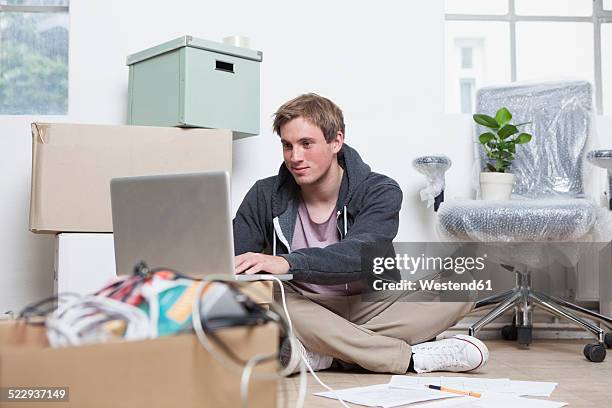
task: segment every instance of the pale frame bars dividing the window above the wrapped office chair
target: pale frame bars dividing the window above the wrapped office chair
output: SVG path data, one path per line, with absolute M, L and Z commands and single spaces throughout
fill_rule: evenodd
M 587 22 L 593 23 L 594 48 L 594 81 L 595 105 L 597 113 L 603 114 L 602 94 L 602 61 L 601 61 L 601 25 L 612 23 L 612 10 L 604 10 L 603 0 L 592 0 L 593 12 L 591 16 L 529 16 L 516 13 L 515 0 L 508 1 L 506 14 L 445 14 L 445 21 L 499 21 L 510 25 L 510 81 L 516 82 L 516 23 L 523 21 L 552 21 L 552 22 Z

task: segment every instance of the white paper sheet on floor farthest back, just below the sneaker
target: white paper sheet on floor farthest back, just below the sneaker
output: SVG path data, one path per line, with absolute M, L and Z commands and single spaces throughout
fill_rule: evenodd
M 495 392 L 532 397 L 550 397 L 557 386 L 557 383 L 553 382 L 515 381 L 508 378 L 418 377 L 406 375 L 394 375 L 389 382 L 389 386 L 393 388 L 417 390 L 428 384 L 480 393 Z

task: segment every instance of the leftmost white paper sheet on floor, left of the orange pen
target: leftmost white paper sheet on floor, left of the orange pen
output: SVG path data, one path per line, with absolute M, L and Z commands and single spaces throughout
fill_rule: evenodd
M 347 388 L 335 392 L 317 392 L 315 395 L 326 398 L 342 398 L 345 402 L 364 405 L 366 407 L 392 408 L 402 405 L 414 404 L 423 401 L 440 400 L 444 398 L 461 398 L 457 394 L 450 394 L 423 387 L 420 390 L 391 389 L 389 384 L 369 385 L 366 387 Z

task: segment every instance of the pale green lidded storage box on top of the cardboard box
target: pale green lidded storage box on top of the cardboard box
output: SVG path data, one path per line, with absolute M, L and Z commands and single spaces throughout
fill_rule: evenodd
M 184 36 L 127 58 L 128 123 L 259 134 L 261 51 Z

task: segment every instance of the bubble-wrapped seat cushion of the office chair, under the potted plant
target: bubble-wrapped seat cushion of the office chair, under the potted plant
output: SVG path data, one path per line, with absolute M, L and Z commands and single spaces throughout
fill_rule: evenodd
M 438 210 L 444 241 L 487 244 L 490 261 L 517 267 L 576 266 L 612 240 L 612 214 L 587 199 L 454 200 Z

